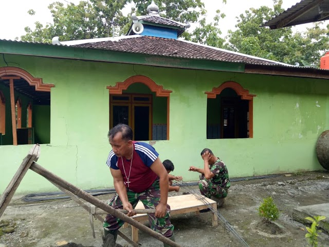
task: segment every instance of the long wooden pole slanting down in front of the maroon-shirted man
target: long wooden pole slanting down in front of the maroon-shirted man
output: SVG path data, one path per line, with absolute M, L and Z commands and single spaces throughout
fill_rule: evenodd
M 85 200 L 89 203 L 92 203 L 95 206 L 106 211 L 108 214 L 111 214 L 111 215 L 131 224 L 132 226 L 137 227 L 139 230 L 151 235 L 152 237 L 160 240 L 161 242 L 166 243 L 170 246 L 180 247 L 179 244 L 175 243 L 174 241 L 170 240 L 169 238 L 166 238 L 166 237 L 162 236 L 161 234 L 156 233 L 155 231 L 151 230 L 149 227 L 139 223 L 138 221 L 132 219 L 131 217 L 128 217 L 128 216 L 122 214 L 121 212 L 117 211 L 116 209 L 107 205 L 106 203 L 102 202 L 101 200 L 93 197 L 92 195 L 89 195 L 87 192 L 79 189 L 78 187 L 74 186 L 73 184 L 68 183 L 67 181 L 61 179 L 57 175 L 47 171 L 46 169 L 44 169 L 40 165 L 36 164 L 35 162 L 33 162 L 30 169 L 32 171 L 35 171 L 36 173 L 42 175 L 44 178 L 46 178 L 50 182 L 58 184 L 62 188 L 69 190 L 70 192 L 74 193 L 76 196 L 82 198 L 83 200 Z

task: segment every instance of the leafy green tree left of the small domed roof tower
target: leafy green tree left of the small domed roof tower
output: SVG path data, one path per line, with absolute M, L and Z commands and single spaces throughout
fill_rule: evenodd
M 124 26 L 127 22 L 122 18 L 121 9 L 126 0 L 90 0 L 81 1 L 78 5 L 54 2 L 49 5 L 53 23 L 45 27 L 40 22 L 35 23 L 35 29 L 25 28 L 26 34 L 22 41 L 46 42 L 59 36 L 60 40 L 79 40 L 107 37 L 112 31 L 113 22 Z M 33 10 L 28 11 L 34 14 Z

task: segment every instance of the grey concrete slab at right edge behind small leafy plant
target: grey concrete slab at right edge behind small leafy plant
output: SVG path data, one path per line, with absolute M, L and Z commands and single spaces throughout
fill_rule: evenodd
M 319 222 L 319 227 L 329 233 L 329 203 L 315 204 L 309 206 L 297 207 L 293 211 L 294 220 L 301 223 L 310 223 L 305 220 L 306 217 L 325 216 L 326 218 Z

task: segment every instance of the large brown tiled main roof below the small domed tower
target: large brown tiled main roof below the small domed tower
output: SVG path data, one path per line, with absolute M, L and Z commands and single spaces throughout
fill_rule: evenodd
M 223 62 L 242 62 L 263 65 L 287 65 L 211 46 L 200 45 L 193 42 L 149 36 L 121 39 L 118 41 L 85 43 L 72 46 L 175 58 L 202 59 Z

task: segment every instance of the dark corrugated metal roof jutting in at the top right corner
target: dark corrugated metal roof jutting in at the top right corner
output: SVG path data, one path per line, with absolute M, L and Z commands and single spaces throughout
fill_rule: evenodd
M 262 26 L 271 29 L 329 20 L 329 0 L 302 0 Z

